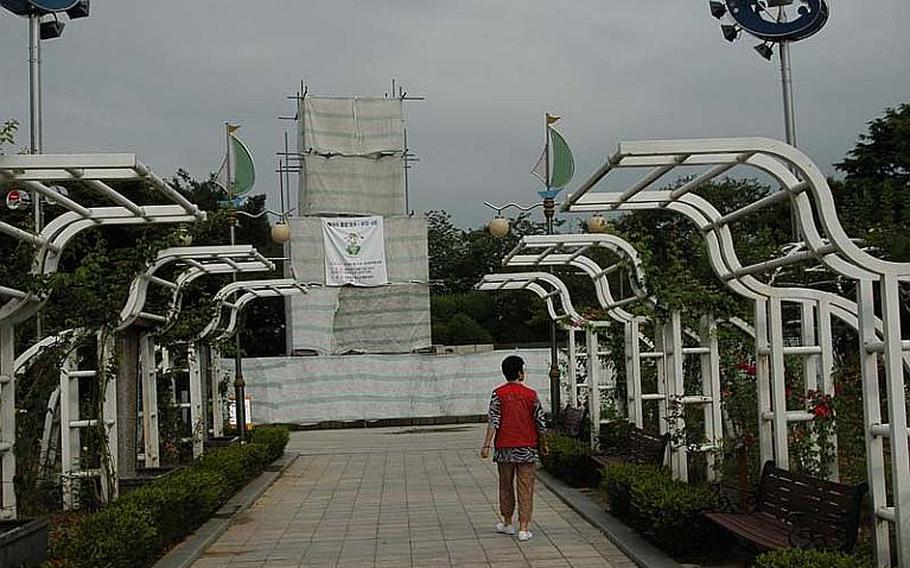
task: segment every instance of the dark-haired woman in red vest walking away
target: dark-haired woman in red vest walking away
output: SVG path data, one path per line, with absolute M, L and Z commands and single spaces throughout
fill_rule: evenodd
M 524 384 L 524 366 L 524 360 L 517 355 L 503 359 L 502 374 L 506 382 L 493 391 L 489 426 L 480 450 L 480 457 L 487 459 L 495 446 L 493 461 L 499 470 L 499 512 L 502 515 L 496 523 L 496 531 L 515 534 L 512 517 L 517 493 L 518 540 L 522 542 L 533 536 L 528 528 L 534 510 L 534 481 L 540 452 L 547 452 L 543 438 L 546 417 L 537 392 Z

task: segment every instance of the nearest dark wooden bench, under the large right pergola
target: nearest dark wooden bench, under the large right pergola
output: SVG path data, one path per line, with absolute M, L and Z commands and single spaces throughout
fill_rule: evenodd
M 866 483 L 843 485 L 779 469 L 762 468 L 758 491 L 740 492 L 739 511 L 706 513 L 717 526 L 760 550 L 791 546 L 849 552 L 856 545 Z M 730 501 L 722 500 L 732 511 Z

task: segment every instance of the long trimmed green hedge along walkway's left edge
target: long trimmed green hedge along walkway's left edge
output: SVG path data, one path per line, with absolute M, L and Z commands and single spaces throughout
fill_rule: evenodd
M 167 547 L 190 534 L 237 490 L 284 452 L 288 431 L 261 426 L 252 443 L 209 452 L 174 475 L 140 487 L 86 515 L 59 549 L 54 566 L 150 566 Z

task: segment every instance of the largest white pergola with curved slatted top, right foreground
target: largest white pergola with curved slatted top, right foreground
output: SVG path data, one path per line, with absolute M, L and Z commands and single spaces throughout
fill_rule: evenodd
M 779 191 L 726 214 L 721 214 L 717 207 L 693 193 L 740 165 L 771 176 L 779 183 Z M 672 191 L 646 191 L 661 177 L 683 166 L 707 169 Z M 589 193 L 610 171 L 640 167 L 652 170 L 625 191 Z M 789 201 L 796 212 L 801 243 L 785 256 L 743 266 L 735 252 L 731 225 L 767 206 L 785 201 Z M 910 564 L 910 448 L 904 395 L 906 352 L 910 350 L 910 342 L 901 336 L 899 297 L 901 282 L 910 280 L 910 264 L 876 258 L 850 239 L 837 217 L 831 189 L 823 173 L 805 154 L 775 140 L 740 138 L 622 143 L 619 151 L 563 205 L 565 211 L 636 209 L 666 209 L 694 220 L 707 239 L 711 262 L 718 276 L 731 289 L 755 301 L 762 454 L 773 455 L 778 466 L 787 467 L 789 462 L 788 421 L 811 418 L 805 409 L 793 412 L 786 407 L 784 356 L 804 357 L 809 368 L 807 384 L 815 380 L 815 384 L 821 383 L 820 390 L 833 394 L 831 317 L 857 329 L 878 564 L 890 565 L 889 529 L 892 526 L 898 564 Z M 755 277 L 811 260 L 855 281 L 856 303 L 817 290 L 775 288 Z M 876 286 L 880 302 L 875 299 Z M 784 345 L 783 301 L 802 306 L 803 344 L 800 346 Z M 881 320 L 875 316 L 876 307 L 882 314 Z M 883 383 L 880 370 L 884 375 Z M 886 398 L 887 421 L 883 418 L 882 392 Z M 887 450 L 884 438 L 890 438 Z M 890 452 L 890 487 L 885 475 L 886 451 Z

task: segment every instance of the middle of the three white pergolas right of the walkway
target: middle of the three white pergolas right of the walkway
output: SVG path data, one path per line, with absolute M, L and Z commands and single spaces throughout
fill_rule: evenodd
M 597 249 L 606 249 L 618 257 L 615 264 L 607 268 L 601 266 L 586 253 Z M 627 415 L 631 422 L 641 428 L 644 425 L 643 402 L 656 401 L 658 404 L 659 428 L 661 434 L 668 430 L 668 410 L 670 405 L 678 408 L 673 413 L 672 427 L 676 432 L 685 428 L 683 408 L 687 404 L 702 406 L 705 415 L 705 442 L 697 448 L 707 457 L 707 475 L 714 478 L 716 471 L 715 456 L 723 439 L 722 406 L 720 400 L 720 364 L 716 338 L 716 322 L 707 315 L 701 318 L 699 332 L 693 332 L 682 326 L 681 313 L 671 311 L 668 321 L 655 321 L 655 341 L 651 342 L 642 333 L 642 324 L 648 318 L 628 312 L 625 306 L 643 302 L 651 306 L 657 302 L 651 298 L 643 284 L 641 261 L 635 248 L 616 235 L 531 235 L 523 237 L 518 245 L 503 260 L 505 266 L 571 266 L 587 274 L 596 290 L 598 302 L 607 314 L 621 323 L 624 329 L 625 373 Z M 626 298 L 616 299 L 610 289 L 608 277 L 611 274 L 626 271 L 629 289 L 632 294 Z M 738 322 L 743 327 L 744 322 Z M 575 350 L 575 334 L 569 333 L 569 357 L 572 360 Z M 697 346 L 684 346 L 688 336 L 698 343 Z M 644 349 L 642 348 L 644 346 Z M 685 356 L 698 356 L 701 369 L 701 392 L 687 393 L 683 373 Z M 642 363 L 653 360 L 656 363 L 657 392 L 644 393 L 642 388 Z M 600 393 L 592 393 L 592 407 L 600 404 Z M 592 412 L 592 414 L 594 414 Z M 593 425 L 599 428 L 599 421 Z M 688 452 L 690 448 L 680 441 L 670 444 L 670 465 L 674 477 L 688 480 Z

